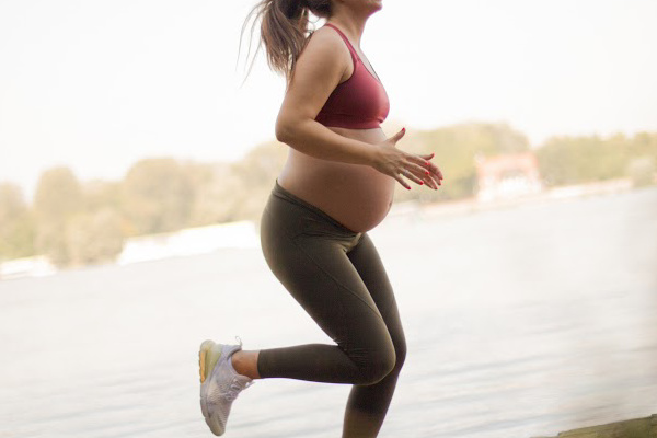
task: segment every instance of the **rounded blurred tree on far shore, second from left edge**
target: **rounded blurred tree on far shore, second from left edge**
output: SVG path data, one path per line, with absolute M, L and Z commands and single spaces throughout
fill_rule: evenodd
M 70 169 L 60 166 L 42 173 L 34 197 L 36 250 L 56 266 L 67 266 L 71 261 L 67 221 L 83 208 L 82 189 Z

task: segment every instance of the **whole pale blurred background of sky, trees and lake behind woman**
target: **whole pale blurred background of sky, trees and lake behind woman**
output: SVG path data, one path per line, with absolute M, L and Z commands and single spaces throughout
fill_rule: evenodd
M 445 174 L 370 231 L 410 345 L 381 436 L 656 413 L 657 3 L 452 3 L 361 42 Z M 254 4 L 0 0 L 1 437 L 208 436 L 200 342 L 331 342 L 260 250 L 287 146 Z M 338 436 L 347 394 L 262 381 L 229 434 Z

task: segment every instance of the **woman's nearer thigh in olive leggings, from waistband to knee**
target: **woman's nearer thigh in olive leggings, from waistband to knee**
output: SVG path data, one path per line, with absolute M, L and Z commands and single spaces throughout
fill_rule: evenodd
M 394 348 L 377 302 L 347 254 L 364 235 L 278 200 L 268 204 L 261 221 L 263 254 L 274 275 L 355 361 Z

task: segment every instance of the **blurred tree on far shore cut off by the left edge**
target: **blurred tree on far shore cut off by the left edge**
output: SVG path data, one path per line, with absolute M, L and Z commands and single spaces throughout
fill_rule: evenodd
M 34 254 L 34 220 L 21 188 L 0 183 L 0 261 Z

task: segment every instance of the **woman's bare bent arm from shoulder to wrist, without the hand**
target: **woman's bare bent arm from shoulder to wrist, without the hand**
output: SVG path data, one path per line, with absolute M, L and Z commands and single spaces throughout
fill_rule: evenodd
M 377 148 L 343 137 L 315 122 L 322 106 L 351 64 L 339 35 L 315 31 L 295 66 L 290 85 L 276 119 L 276 138 L 310 157 L 372 165 Z

